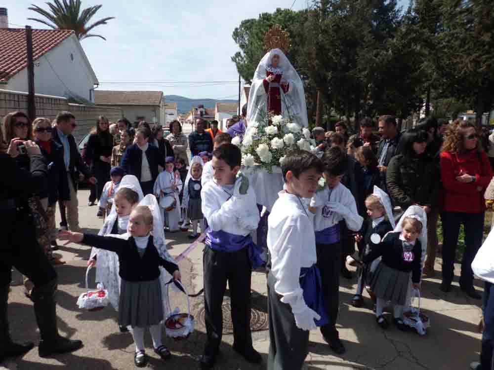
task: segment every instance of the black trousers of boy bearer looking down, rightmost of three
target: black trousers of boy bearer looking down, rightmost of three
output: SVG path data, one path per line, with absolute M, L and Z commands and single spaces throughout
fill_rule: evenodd
M 339 310 L 339 276 L 341 267 L 341 244 L 316 243 L 317 267 L 321 272 L 324 304 L 329 323 L 321 327 L 321 333 L 328 339 L 338 338 L 336 319 Z

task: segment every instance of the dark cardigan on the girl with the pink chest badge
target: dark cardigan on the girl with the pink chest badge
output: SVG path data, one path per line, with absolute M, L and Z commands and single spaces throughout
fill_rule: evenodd
M 422 244 L 420 240 L 415 241 L 413 246 L 413 261 L 408 262 L 403 256 L 403 242 L 400 240 L 400 232 L 390 232 L 384 240 L 376 244 L 367 256 L 364 257 L 364 263 L 369 263 L 374 259 L 381 257 L 381 263 L 398 271 L 412 271 L 412 282 L 420 282 L 420 259 L 422 258 Z

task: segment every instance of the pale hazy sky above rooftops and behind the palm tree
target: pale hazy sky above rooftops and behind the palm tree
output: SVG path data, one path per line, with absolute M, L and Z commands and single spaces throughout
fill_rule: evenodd
M 399 0 L 406 6 L 409 0 Z M 37 13 L 28 10 L 44 1 L 4 0 L 9 27 L 30 25 Z M 179 84 L 146 82 L 116 84 L 104 81 L 237 81 L 231 56 L 238 51 L 232 32 L 243 19 L 259 13 L 289 8 L 293 0 L 82 0 L 84 7 L 103 4 L 95 19 L 114 16 L 108 25 L 95 28 L 99 37 L 82 40 L 82 47 L 103 90 L 162 90 L 165 95 L 189 98 L 235 99 L 238 84 Z M 295 0 L 294 10 L 307 6 Z M 17 25 L 17 26 L 16 26 Z

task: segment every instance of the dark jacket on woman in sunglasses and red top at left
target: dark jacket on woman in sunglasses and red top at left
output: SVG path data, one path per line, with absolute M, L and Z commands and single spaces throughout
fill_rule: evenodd
M 41 148 L 41 147 L 40 147 Z M 48 188 L 38 195 L 41 198 L 48 197 L 48 205 L 53 205 L 57 200 L 70 200 L 69 180 L 63 159 L 63 146 L 51 140 L 51 152 L 41 148 L 48 164 Z

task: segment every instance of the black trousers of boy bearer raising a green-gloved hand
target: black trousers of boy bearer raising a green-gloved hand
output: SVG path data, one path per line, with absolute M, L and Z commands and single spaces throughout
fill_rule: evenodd
M 230 288 L 234 345 L 252 347 L 250 333 L 251 267 L 247 248 L 237 252 L 204 250 L 204 303 L 206 313 L 206 347 L 204 354 L 215 357 L 223 333 L 223 296 L 226 283 Z

